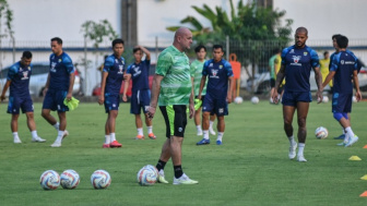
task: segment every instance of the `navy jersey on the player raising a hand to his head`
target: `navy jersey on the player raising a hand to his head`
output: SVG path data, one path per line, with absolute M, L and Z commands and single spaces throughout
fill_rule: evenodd
M 127 73 L 131 74 L 132 92 L 149 89 L 149 71 L 151 68 L 151 60 L 144 60 L 140 63 L 131 63 L 128 66 Z

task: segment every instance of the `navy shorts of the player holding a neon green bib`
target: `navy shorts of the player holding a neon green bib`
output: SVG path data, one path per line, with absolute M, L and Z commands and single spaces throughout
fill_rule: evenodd
M 43 109 L 57 110 L 58 112 L 69 111 L 68 106 L 63 105 L 67 95 L 67 90 L 48 89 L 44 99 Z

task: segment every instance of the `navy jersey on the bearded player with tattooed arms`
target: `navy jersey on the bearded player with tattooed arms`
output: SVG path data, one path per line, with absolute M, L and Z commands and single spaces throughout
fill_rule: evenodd
M 309 77 L 311 68 L 320 68 L 317 52 L 305 46 L 283 49 L 282 65 L 285 68 L 285 90 L 310 92 Z

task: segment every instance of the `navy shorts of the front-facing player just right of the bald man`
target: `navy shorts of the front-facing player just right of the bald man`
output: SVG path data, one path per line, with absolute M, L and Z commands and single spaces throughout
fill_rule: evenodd
M 217 117 L 228 116 L 228 104 L 225 98 L 216 99 L 206 94 L 201 107 L 203 112 L 215 113 Z

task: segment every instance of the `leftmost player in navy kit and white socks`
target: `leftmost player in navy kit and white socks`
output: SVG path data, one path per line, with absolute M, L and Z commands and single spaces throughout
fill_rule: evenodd
M 7 83 L 2 89 L 0 100 L 5 99 L 5 93 L 10 87 L 8 113 L 12 114 L 10 128 L 13 133 L 14 143 L 22 143 L 17 134 L 17 119 L 20 109 L 27 118 L 27 125 L 32 134 L 32 142 L 46 142 L 37 135 L 36 123 L 34 121 L 33 101 L 29 94 L 29 80 L 32 75 L 32 53 L 24 51 L 21 61 L 10 66 Z

